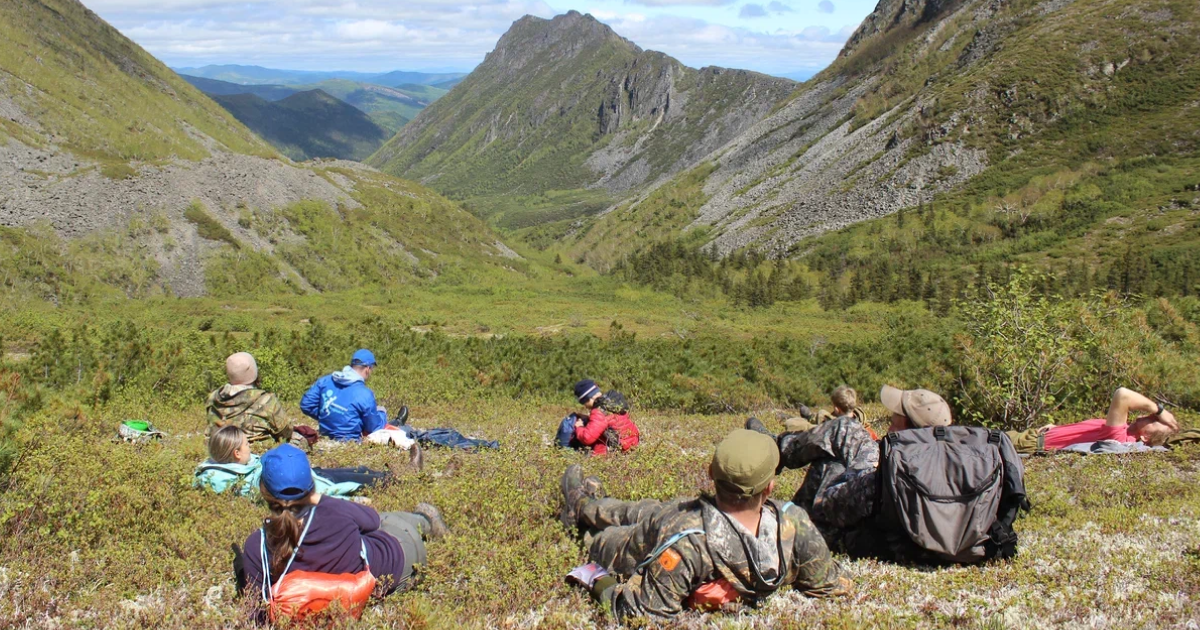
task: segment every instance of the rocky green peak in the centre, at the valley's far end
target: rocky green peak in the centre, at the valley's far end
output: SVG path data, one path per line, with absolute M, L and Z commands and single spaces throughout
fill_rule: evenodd
M 590 16 L 526 17 L 370 163 L 455 198 L 624 192 L 692 166 L 793 88 L 689 68 Z

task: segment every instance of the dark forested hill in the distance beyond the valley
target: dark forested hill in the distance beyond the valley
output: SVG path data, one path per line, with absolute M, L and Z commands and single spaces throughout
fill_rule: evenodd
M 296 92 L 270 102 L 253 94 L 212 96 L 283 155 L 364 160 L 391 137 L 359 109 L 322 90 Z

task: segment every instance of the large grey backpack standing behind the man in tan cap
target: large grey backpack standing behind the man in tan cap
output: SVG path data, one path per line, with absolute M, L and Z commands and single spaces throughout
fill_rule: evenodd
M 880 446 L 880 526 L 894 559 L 970 564 L 1016 554 L 1025 468 L 1000 431 L 940 426 Z

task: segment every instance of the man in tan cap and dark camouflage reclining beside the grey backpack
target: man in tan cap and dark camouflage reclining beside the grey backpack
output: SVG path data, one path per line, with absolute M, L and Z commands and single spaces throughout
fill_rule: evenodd
M 892 412 L 888 433 L 952 421 L 946 400 L 925 389 L 884 385 L 880 401 Z M 778 443 L 780 469 L 810 467 L 792 503 L 809 512 L 829 547 L 853 556 L 874 554 L 872 545 L 878 541 L 858 526 L 874 516 L 878 503 L 880 445 L 862 422 L 839 418 L 810 431 L 784 433 Z

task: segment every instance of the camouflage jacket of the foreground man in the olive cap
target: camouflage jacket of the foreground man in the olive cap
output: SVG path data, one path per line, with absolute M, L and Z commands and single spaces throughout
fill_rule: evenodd
M 712 499 L 664 505 L 653 518 L 634 526 L 608 568 L 628 578 L 606 589 L 601 601 L 618 618 L 670 617 L 682 612 L 689 600 L 694 602 L 694 594 L 702 587 L 722 580 L 725 588 L 736 589 L 740 604 L 750 606 L 784 586 L 810 596 L 845 593 L 850 581 L 842 577 L 804 510 L 775 500 L 768 502 L 766 509 L 778 518 L 778 552 L 755 563 L 746 557 L 750 547 L 742 540 L 744 534 L 732 527 Z M 763 574 L 770 577 L 764 580 Z

